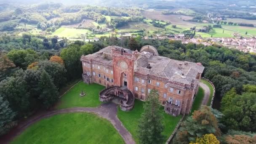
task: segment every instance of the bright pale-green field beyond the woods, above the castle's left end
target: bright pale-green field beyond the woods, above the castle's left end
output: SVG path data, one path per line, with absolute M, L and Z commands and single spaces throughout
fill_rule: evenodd
M 67 38 L 76 38 L 80 37 L 80 34 L 91 33 L 88 29 L 75 29 L 75 28 L 67 28 L 60 27 L 52 35 L 57 35 L 58 37 L 67 37 Z

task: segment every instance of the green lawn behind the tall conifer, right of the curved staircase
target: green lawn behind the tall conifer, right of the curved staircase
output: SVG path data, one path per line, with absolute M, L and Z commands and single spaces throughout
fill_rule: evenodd
M 139 143 L 139 139 L 136 136 L 137 135 L 137 128 L 139 125 L 139 119 L 141 118 L 141 114 L 143 112 L 143 101 L 135 100 L 134 107 L 129 112 L 123 112 L 120 108 L 118 108 L 117 117 L 122 121 L 123 125 L 127 130 L 131 133 L 133 136 L 133 139 L 136 141 L 136 143 Z M 166 114 L 163 111 L 164 115 L 164 131 L 163 135 L 165 136 L 165 139 L 167 140 L 173 130 L 175 129 L 175 126 L 181 119 L 181 115 L 178 117 L 174 117 L 171 115 Z

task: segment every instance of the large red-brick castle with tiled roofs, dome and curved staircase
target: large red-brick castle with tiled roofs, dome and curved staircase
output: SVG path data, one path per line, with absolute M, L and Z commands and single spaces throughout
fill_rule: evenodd
M 204 67 L 201 63 L 178 61 L 158 56 L 156 48 L 146 45 L 140 51 L 108 46 L 81 57 L 83 81 L 106 88 L 100 101 L 120 98 L 120 108 L 131 110 L 134 99 L 145 101 L 152 89 L 170 115 L 189 114 L 199 88 Z

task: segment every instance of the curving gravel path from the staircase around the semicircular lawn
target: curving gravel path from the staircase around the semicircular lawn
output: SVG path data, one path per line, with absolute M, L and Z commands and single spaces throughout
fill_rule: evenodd
M 0 137 L 0 144 L 8 144 L 15 136 L 18 136 L 26 128 L 28 128 L 33 123 L 40 121 L 43 118 L 51 117 L 53 115 L 63 114 L 63 113 L 72 113 L 72 112 L 93 112 L 100 117 L 106 118 L 109 120 L 112 125 L 116 128 L 118 133 L 123 137 L 126 144 L 135 144 L 131 133 L 129 133 L 126 128 L 123 126 L 121 121 L 117 117 L 117 104 L 112 102 L 101 104 L 100 107 L 89 108 L 89 107 L 74 107 L 67 109 L 51 110 L 47 112 L 40 112 L 38 115 L 30 117 L 28 120 L 19 123 L 18 126 L 13 128 L 9 133 Z

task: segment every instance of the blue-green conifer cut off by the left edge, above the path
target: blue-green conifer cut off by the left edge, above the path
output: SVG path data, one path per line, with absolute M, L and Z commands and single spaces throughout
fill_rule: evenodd
M 3 100 L 3 97 L 0 95 L 0 136 L 8 132 L 8 124 L 13 121 L 13 118 L 16 116 L 16 113 L 13 112 L 9 106 L 9 102 Z

